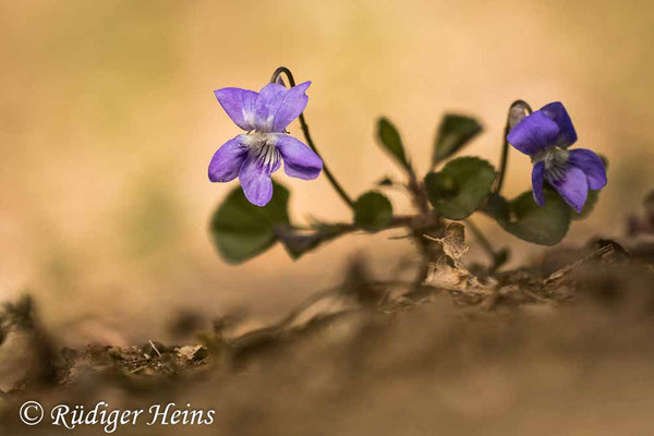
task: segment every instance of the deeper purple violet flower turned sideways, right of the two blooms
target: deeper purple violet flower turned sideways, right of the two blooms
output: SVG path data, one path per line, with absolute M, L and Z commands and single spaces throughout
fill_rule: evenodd
M 600 156 L 585 148 L 567 149 L 577 142 L 577 132 L 559 101 L 545 105 L 522 119 L 511 129 L 507 141 L 531 156 L 534 201 L 540 206 L 545 204 L 544 180 L 578 213 L 585 204 L 589 190 L 606 185 L 606 169 Z

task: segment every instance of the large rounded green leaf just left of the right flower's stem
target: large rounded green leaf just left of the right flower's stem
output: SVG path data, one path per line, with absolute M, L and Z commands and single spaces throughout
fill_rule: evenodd
M 476 157 L 460 157 L 439 172 L 429 172 L 425 187 L 434 208 L 444 217 L 458 220 L 477 209 L 494 181 L 491 164 Z

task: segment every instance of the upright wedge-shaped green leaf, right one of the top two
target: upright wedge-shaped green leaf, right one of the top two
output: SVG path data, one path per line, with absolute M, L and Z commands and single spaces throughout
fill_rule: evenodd
M 436 134 L 432 166 L 435 167 L 439 161 L 452 156 L 482 130 L 482 124 L 474 118 L 446 113 Z

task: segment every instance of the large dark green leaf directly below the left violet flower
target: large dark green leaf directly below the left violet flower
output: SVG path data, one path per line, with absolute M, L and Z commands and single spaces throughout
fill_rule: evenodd
M 274 227 L 289 225 L 289 190 L 272 182 L 270 203 L 258 207 L 237 186 L 214 213 L 210 232 L 225 261 L 238 264 L 263 253 L 277 241 Z

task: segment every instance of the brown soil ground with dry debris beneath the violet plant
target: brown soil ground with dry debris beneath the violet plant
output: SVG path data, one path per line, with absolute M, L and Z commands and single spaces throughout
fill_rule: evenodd
M 2 434 L 70 432 L 21 423 L 33 399 L 216 411 L 211 425 L 143 420 L 123 435 L 654 434 L 654 244 L 600 240 L 492 276 L 447 249 L 422 286 L 375 281 L 356 261 L 277 324 L 225 316 L 186 346 L 61 349 L 29 299 L 8 305 L 2 348 L 25 376 L 0 399 Z

